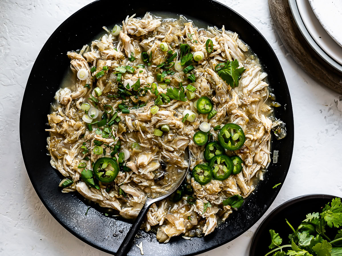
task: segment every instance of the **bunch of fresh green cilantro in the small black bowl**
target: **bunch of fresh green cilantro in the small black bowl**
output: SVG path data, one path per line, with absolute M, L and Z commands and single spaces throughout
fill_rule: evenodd
M 342 256 L 342 229 L 337 229 L 342 225 L 341 198 L 332 199 L 320 214 L 307 214 L 297 229 L 287 220 L 286 223 L 293 231 L 289 235 L 290 244 L 281 245 L 279 234 L 270 229 L 271 244 L 268 247 L 275 249 L 265 256 Z M 333 240 L 326 234 L 329 228 L 333 229 L 329 233 L 336 233 Z

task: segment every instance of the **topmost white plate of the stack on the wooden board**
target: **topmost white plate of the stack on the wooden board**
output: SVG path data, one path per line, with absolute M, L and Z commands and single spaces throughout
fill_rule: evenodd
M 309 0 L 318 21 L 340 46 L 342 46 L 342 1 Z

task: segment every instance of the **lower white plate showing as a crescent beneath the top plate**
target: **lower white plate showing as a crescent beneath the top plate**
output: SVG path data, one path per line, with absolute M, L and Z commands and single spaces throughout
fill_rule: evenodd
M 326 1 L 324 0 L 324 2 Z M 330 37 L 320 24 L 311 8 L 309 0 L 297 0 L 297 6 L 303 23 L 311 37 L 331 58 L 342 64 L 341 46 Z

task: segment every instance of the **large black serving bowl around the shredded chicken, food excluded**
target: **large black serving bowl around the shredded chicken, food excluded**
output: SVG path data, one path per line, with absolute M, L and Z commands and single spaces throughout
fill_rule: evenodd
M 104 8 L 106 11 L 102 12 Z M 268 73 L 268 81 L 274 89 L 277 102 L 283 106 L 275 111 L 277 117 L 286 123 L 288 135 L 282 140 L 273 138 L 272 148 L 279 150 L 278 163 L 269 165 L 265 179 L 260 181 L 255 192 L 225 224 L 205 238 L 194 238 L 190 241 L 177 237 L 167 244 L 158 243 L 155 234 L 140 231 L 140 238 L 135 242 L 144 242 L 145 255 L 194 255 L 237 238 L 252 227 L 272 204 L 281 186 L 274 189 L 272 187 L 277 183 L 284 183 L 292 157 L 293 113 L 284 73 L 271 46 L 246 19 L 227 6 L 211 0 L 196 2 L 195 5 L 184 1 L 163 4 L 159 1 L 148 1 L 141 4 L 139 1 L 100 0 L 85 6 L 56 29 L 32 67 L 21 108 L 20 138 L 28 176 L 45 207 L 76 237 L 108 253 L 116 252 L 130 224 L 126 220 L 105 216 L 100 207 L 89 209 L 86 216 L 89 204 L 84 203 L 76 193 L 61 193 L 57 184 L 62 176 L 51 167 L 46 150 L 48 133 L 44 132 L 44 129 L 47 128 L 47 114 L 61 84 L 63 73 L 70 65 L 67 51 L 80 49 L 84 43 L 104 32 L 102 26 L 112 27 L 128 14 L 136 13 L 137 16 L 142 16 L 146 11 L 153 13 L 166 10 L 185 16 L 196 15 L 197 18 L 217 27 L 225 25 L 227 30 L 236 31 L 240 38 L 251 46 Z M 82 24 L 82 32 L 75 29 L 78 24 Z M 140 251 L 133 246 L 129 255 L 140 255 Z

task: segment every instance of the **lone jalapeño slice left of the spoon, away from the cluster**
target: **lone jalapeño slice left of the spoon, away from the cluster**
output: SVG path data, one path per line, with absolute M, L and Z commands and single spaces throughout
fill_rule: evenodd
M 93 171 L 98 180 L 109 183 L 118 176 L 119 166 L 113 159 L 109 157 L 101 157 L 94 163 Z

